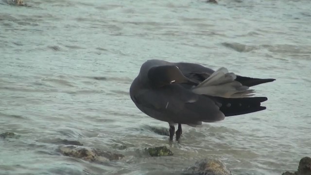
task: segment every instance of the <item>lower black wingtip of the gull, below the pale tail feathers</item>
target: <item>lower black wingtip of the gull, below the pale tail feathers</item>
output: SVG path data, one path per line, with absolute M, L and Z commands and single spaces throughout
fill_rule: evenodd
M 248 98 L 223 98 L 212 97 L 219 103 L 221 103 L 220 111 L 225 116 L 235 116 L 241 114 L 247 114 L 257 112 L 266 109 L 265 106 L 261 106 L 261 102 L 268 100 L 266 97 L 248 97 Z

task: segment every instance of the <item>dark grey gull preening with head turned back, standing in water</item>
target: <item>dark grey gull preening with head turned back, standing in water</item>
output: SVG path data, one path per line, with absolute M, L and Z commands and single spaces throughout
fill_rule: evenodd
M 224 67 L 214 71 L 194 63 L 153 59 L 142 64 L 130 96 L 143 113 L 169 123 L 170 141 L 178 124 L 178 141 L 181 124 L 196 127 L 266 109 L 260 103 L 267 98 L 252 97 L 255 91 L 249 87 L 274 80 L 239 76 Z

